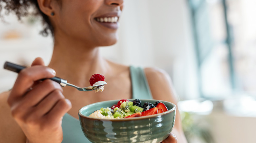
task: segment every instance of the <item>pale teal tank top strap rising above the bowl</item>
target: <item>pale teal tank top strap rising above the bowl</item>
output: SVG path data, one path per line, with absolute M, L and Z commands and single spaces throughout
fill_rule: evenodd
M 130 75 L 133 99 L 153 99 L 144 69 L 130 66 Z

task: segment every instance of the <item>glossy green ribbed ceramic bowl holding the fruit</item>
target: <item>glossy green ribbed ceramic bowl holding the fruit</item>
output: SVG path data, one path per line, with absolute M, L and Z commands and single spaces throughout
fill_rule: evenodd
M 133 99 L 129 99 L 133 101 Z M 168 111 L 144 117 L 125 119 L 96 119 L 89 117 L 94 111 L 104 107 L 111 107 L 119 100 L 93 103 L 82 107 L 79 120 L 84 135 L 93 143 L 159 143 L 171 133 L 176 114 L 173 103 L 160 101 L 166 105 Z M 159 100 L 141 100 L 155 103 Z

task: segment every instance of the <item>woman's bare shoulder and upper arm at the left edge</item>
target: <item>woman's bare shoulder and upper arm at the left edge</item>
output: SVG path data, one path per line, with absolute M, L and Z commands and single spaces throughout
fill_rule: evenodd
M 7 103 L 9 93 L 0 93 L 0 138 L 5 143 L 25 143 L 26 136 L 11 116 Z

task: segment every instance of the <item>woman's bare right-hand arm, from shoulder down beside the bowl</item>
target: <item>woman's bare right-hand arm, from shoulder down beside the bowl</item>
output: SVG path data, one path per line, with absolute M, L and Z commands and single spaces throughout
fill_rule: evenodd
M 146 68 L 145 74 L 146 74 L 153 98 L 157 100 L 168 101 L 168 102 L 174 103 L 177 106 L 178 97 L 175 93 L 171 78 L 168 75 L 168 73 L 160 69 Z M 154 88 L 154 87 L 161 87 L 161 88 Z M 175 125 L 172 133 L 177 136 L 178 143 L 187 143 L 182 130 L 182 126 L 181 126 L 181 117 L 178 110 L 178 106 L 177 106 L 177 112 L 176 112 Z M 166 140 L 164 142 L 166 142 Z

